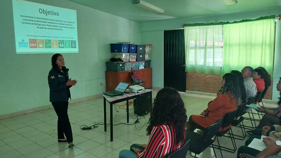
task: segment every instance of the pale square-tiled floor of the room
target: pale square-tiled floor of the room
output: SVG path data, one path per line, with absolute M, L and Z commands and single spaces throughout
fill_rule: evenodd
M 153 91 L 153 97 L 157 91 Z M 207 107 L 207 103 L 214 97 L 189 95 L 182 93 L 188 117 L 191 114 L 200 114 Z M 122 106 L 125 103 L 116 104 L 113 111 L 114 124 L 126 123 L 126 110 Z M 107 104 L 109 112 L 109 104 Z M 120 106 L 121 105 L 121 106 Z M 267 106 L 273 106 L 267 104 Z M 129 112 L 132 117 L 136 118 L 133 113 L 133 107 L 130 106 Z M 116 112 L 119 111 L 119 112 Z M 57 116 L 54 109 L 37 111 L 25 115 L 15 116 L 0 120 L 0 157 L 1 158 L 112 158 L 118 157 L 119 151 L 129 149 L 133 143 L 147 143 L 146 124 L 149 115 L 145 119 L 140 119 L 140 123 L 135 125 L 120 124 L 114 126 L 114 141 L 110 142 L 110 128 L 104 132 L 104 126 L 99 125 L 92 130 L 81 130 L 81 125 L 91 126 L 95 122 L 103 122 L 103 98 L 95 98 L 83 102 L 69 105 L 68 115 L 73 132 L 72 149 L 68 148 L 67 142 L 57 142 L 56 124 Z M 109 118 L 109 113 L 107 114 Z M 136 119 L 130 117 L 130 123 Z M 109 122 L 109 119 L 107 119 Z M 249 124 L 245 121 L 244 123 Z M 233 127 L 234 133 L 240 133 L 240 129 Z M 241 133 L 240 133 L 241 134 Z M 230 138 L 220 138 L 220 144 L 231 147 Z M 245 140 L 236 140 L 237 147 L 244 145 Z M 217 156 L 220 153 L 216 150 Z M 223 152 L 224 157 L 234 158 L 236 153 Z M 209 147 L 198 157 L 212 158 L 213 150 Z M 188 155 L 187 157 L 191 157 Z

